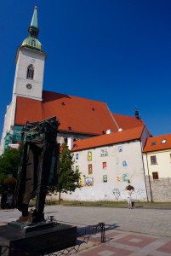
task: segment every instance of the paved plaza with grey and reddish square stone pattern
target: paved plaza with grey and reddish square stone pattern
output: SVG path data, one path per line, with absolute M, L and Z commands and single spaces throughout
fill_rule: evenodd
M 170 209 L 46 206 L 44 212 L 45 218 L 77 226 L 77 246 L 70 255 L 171 255 Z M 19 217 L 16 209 L 0 210 L 1 225 Z M 105 223 L 105 242 L 100 230 L 86 233 L 99 223 Z

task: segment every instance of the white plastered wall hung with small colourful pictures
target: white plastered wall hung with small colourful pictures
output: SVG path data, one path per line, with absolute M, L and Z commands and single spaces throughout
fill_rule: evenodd
M 123 147 L 123 152 L 119 152 L 119 147 Z M 101 149 L 107 150 L 108 155 L 100 156 Z M 88 151 L 92 153 L 92 161 L 88 161 Z M 79 166 L 82 178 L 93 177 L 94 185 L 76 189 L 71 195 L 62 194 L 64 200 L 124 201 L 127 199 L 125 187 L 128 185 L 128 182 L 123 181 L 124 174 L 128 174 L 128 179 L 134 186 L 134 200 L 147 200 L 140 141 L 77 151 L 74 152 L 74 159 L 74 168 Z M 127 161 L 128 166 L 123 166 L 123 160 Z M 103 168 L 103 162 L 106 162 L 106 168 Z M 92 164 L 92 174 L 88 174 L 88 164 Z M 106 183 L 103 182 L 104 175 L 107 175 Z M 117 181 L 117 177 L 120 181 Z

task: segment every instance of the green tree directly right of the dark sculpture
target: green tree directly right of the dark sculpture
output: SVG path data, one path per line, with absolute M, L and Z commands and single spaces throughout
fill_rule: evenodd
M 61 193 L 74 192 L 77 188 L 81 188 L 80 175 L 78 170 L 74 171 L 73 154 L 66 144 L 63 144 L 60 151 L 60 168 L 58 176 L 58 184 L 55 188 L 59 192 L 59 204 Z

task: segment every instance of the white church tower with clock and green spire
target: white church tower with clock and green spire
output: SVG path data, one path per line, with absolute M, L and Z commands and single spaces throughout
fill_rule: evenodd
M 44 63 L 47 55 L 43 53 L 42 44 L 37 39 L 39 33 L 37 7 L 34 9 L 28 33 L 29 37 L 18 48 L 15 57 L 13 96 L 5 114 L 0 154 L 5 148 L 7 136 L 12 137 L 14 132 L 16 97 L 22 96 L 42 101 Z

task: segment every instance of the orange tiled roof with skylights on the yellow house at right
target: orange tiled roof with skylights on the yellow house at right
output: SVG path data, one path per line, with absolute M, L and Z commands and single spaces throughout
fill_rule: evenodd
M 171 149 L 171 134 L 165 134 L 157 137 L 149 137 L 146 140 L 143 152 L 152 152 L 169 148 Z

